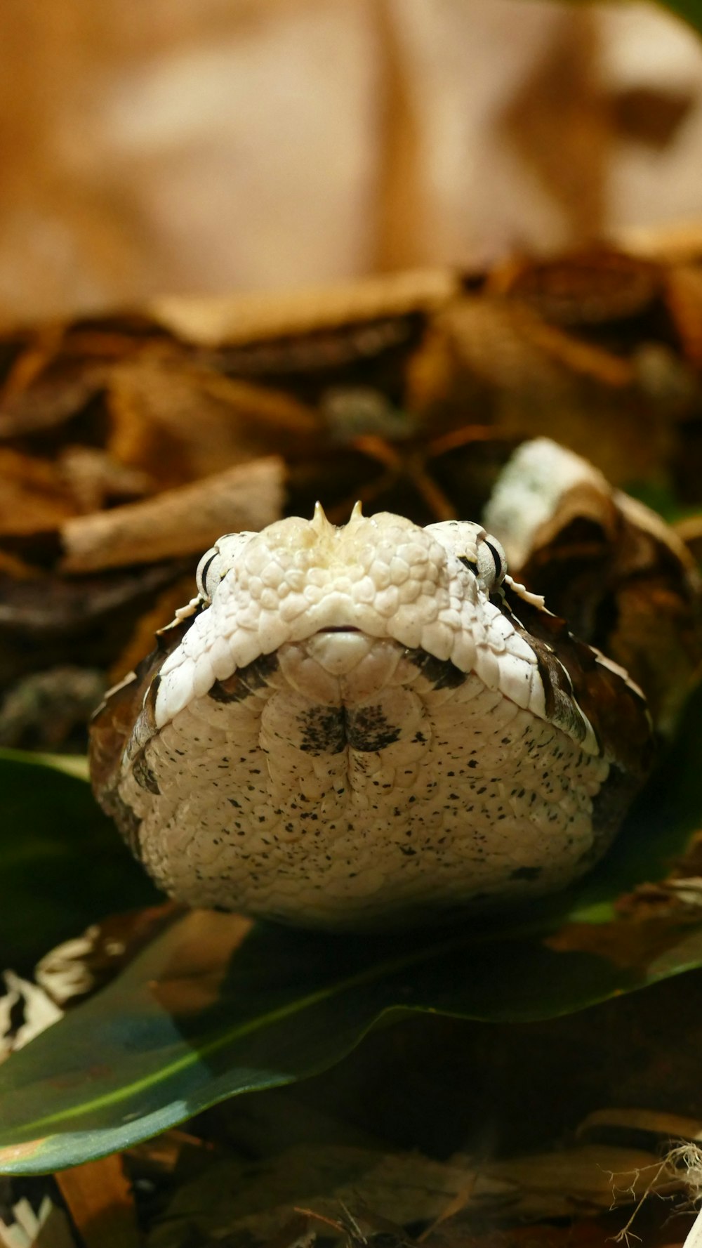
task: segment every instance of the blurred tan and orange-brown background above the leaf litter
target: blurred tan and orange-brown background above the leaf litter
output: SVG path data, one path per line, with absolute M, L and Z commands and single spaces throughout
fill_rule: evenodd
M 702 213 L 648 4 L 4 0 L 0 316 L 314 285 Z

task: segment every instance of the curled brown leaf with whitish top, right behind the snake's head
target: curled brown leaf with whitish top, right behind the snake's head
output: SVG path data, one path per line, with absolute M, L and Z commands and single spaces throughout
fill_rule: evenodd
M 668 735 L 702 664 L 701 582 L 680 535 L 546 439 L 515 452 L 485 523 L 515 575 L 626 668 Z

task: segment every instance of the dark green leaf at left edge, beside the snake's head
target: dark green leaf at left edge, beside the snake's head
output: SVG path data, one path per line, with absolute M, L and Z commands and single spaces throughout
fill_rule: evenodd
M 0 750 L 0 971 L 160 896 L 81 775 L 84 760 Z

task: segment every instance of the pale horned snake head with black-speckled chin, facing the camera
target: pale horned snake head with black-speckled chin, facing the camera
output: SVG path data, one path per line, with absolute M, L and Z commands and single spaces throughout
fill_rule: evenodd
M 318 504 L 221 537 L 196 589 L 91 730 L 100 804 L 187 905 L 347 931 L 509 906 L 584 875 L 651 769 L 638 685 L 481 523 Z

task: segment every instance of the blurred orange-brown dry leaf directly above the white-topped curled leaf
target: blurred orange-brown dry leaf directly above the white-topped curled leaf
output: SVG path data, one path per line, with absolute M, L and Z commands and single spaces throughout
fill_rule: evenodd
M 408 406 L 439 429 L 480 413 L 502 436 L 554 437 L 616 483 L 646 478 L 670 457 L 668 404 L 646 393 L 633 357 L 566 333 L 517 300 L 466 296 L 434 317 L 410 362 Z

